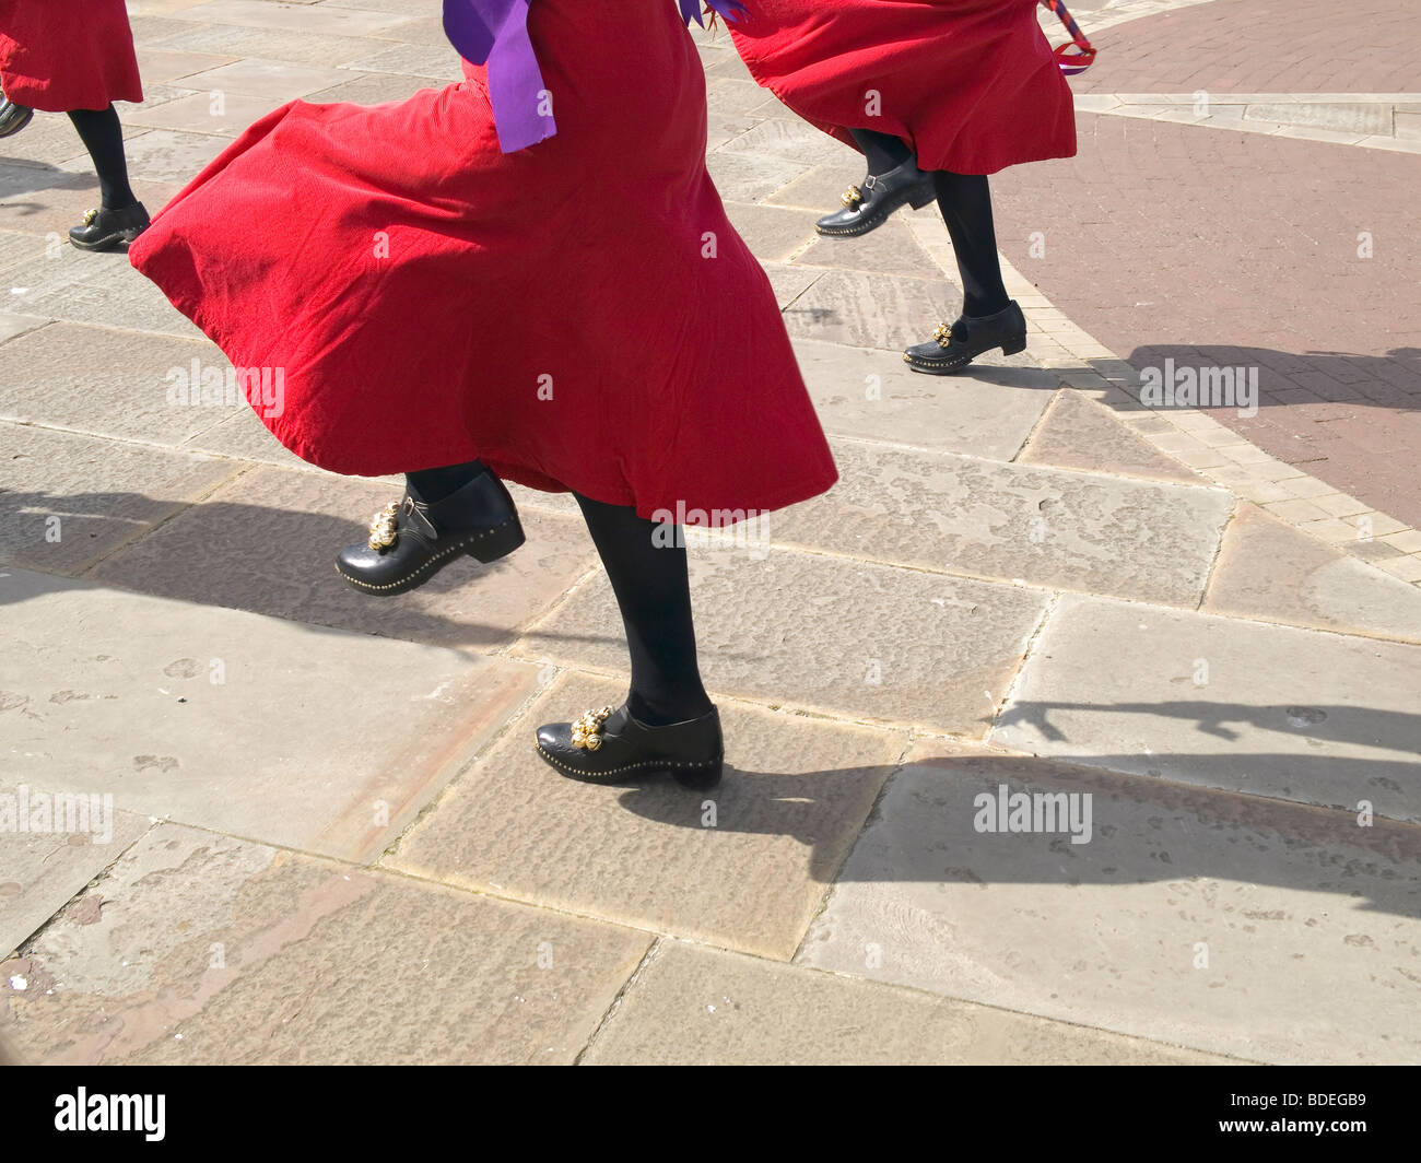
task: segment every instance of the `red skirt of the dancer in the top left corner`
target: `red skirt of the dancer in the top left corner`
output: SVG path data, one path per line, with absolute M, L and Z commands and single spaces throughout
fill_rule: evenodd
M 141 102 L 124 0 L 0 0 L 0 92 L 55 114 Z

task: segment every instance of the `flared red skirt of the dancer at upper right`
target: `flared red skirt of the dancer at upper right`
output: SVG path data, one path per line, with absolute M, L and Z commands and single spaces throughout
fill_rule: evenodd
M 1076 154 L 1070 87 L 1036 0 L 749 0 L 729 24 L 750 74 L 853 145 L 902 138 L 924 169 L 996 173 Z

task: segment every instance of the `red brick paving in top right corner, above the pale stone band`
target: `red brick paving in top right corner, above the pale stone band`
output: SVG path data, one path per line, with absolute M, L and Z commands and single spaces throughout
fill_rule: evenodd
M 1077 92 L 1421 90 L 1421 9 L 1400 0 L 1212 0 L 1091 41 Z

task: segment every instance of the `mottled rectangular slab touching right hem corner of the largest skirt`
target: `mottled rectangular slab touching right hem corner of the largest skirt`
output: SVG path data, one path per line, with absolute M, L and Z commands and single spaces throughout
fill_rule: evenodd
M 773 513 L 777 542 L 1192 607 L 1233 503 L 1222 489 L 857 441 L 833 446 L 838 485 Z

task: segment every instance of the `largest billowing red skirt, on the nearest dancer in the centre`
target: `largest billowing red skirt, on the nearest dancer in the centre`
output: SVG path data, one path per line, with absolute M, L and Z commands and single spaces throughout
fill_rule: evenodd
M 547 141 L 502 154 L 468 63 L 408 101 L 294 101 L 129 257 L 321 468 L 477 458 L 644 518 L 824 492 L 837 473 L 774 294 L 706 175 L 702 64 L 671 0 L 645 7 L 531 6 Z M 257 392 L 263 375 L 284 392 Z

